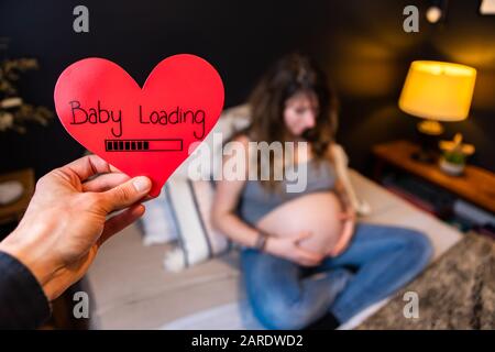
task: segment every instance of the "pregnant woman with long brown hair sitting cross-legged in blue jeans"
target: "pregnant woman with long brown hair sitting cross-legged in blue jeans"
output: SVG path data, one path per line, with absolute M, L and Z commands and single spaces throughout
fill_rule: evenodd
M 336 97 L 310 59 L 280 59 L 250 102 L 252 123 L 232 139 L 245 151 L 245 177 L 218 182 L 213 223 L 243 246 L 244 287 L 263 326 L 337 328 L 420 273 L 430 242 L 415 230 L 355 223 L 332 162 Z M 295 152 L 284 147 L 280 162 L 253 142 L 294 142 Z M 289 180 L 274 177 L 289 162 L 305 166 L 302 191 L 288 193 Z M 266 167 L 268 179 L 260 177 Z

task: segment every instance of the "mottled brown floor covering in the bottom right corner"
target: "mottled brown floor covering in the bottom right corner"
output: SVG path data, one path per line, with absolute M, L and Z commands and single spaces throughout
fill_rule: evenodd
M 359 329 L 495 329 L 495 241 L 468 234 Z

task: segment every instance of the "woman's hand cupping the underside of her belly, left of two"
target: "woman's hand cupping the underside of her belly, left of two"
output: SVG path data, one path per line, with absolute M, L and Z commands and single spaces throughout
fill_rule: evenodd
M 265 250 L 267 253 L 296 262 L 302 266 L 316 266 L 320 264 L 324 255 L 300 248 L 299 242 L 311 237 L 310 232 L 299 232 L 295 235 L 283 238 L 270 237 Z

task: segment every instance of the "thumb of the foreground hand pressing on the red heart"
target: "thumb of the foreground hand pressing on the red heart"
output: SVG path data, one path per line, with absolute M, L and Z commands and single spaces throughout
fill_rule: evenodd
M 152 183 L 150 178 L 139 176 L 102 193 L 102 198 L 111 212 L 138 202 L 148 194 L 151 187 Z

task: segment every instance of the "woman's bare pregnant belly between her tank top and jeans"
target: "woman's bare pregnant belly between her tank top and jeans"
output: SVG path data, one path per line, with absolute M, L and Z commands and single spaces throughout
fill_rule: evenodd
M 277 237 L 309 231 L 312 235 L 300 242 L 301 248 L 323 254 L 336 245 L 342 232 L 341 210 L 333 193 L 309 194 L 273 209 L 256 228 Z

